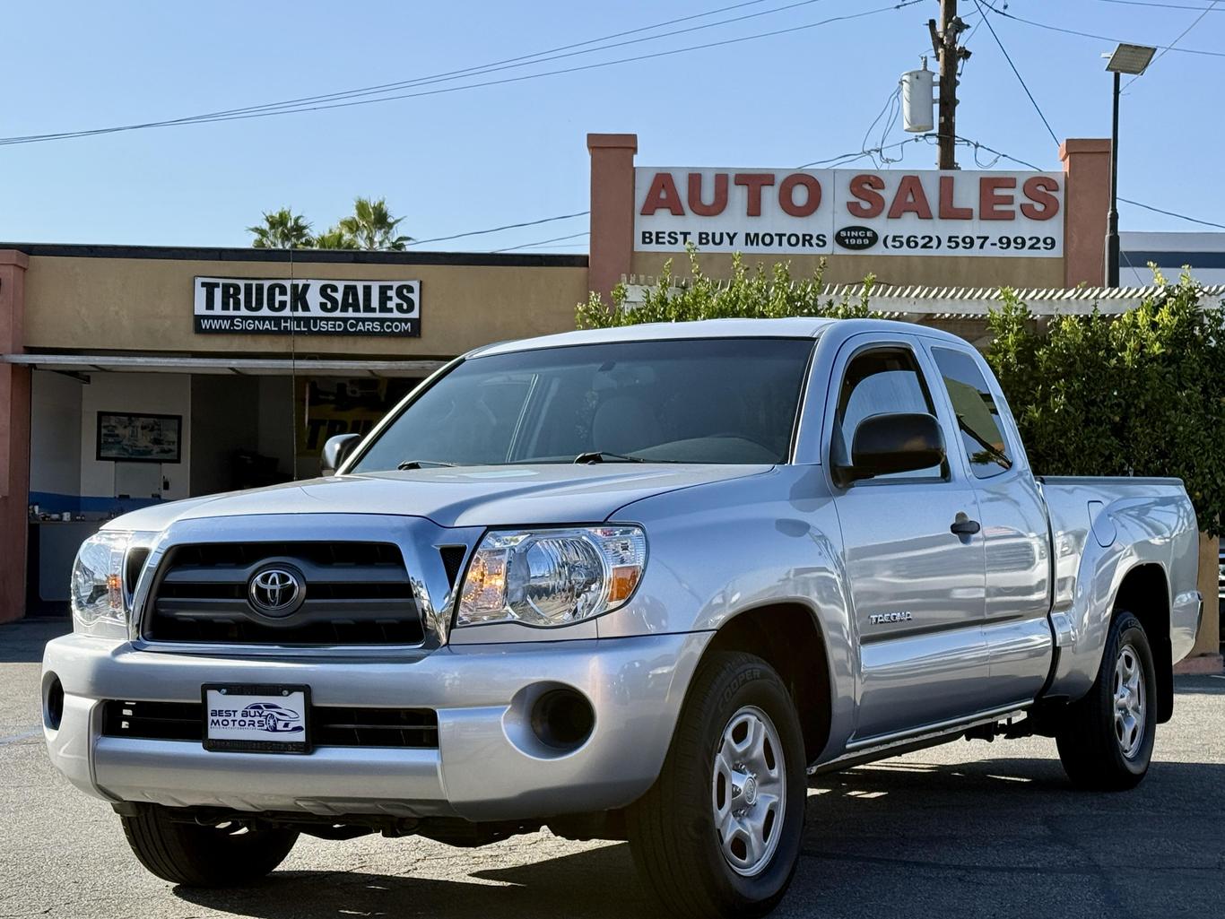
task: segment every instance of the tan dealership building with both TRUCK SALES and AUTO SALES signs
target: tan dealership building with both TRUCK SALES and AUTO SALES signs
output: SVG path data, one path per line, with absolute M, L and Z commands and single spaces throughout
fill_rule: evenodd
M 632 299 L 669 260 L 682 283 L 687 244 L 714 277 L 734 252 L 823 262 L 838 297 L 872 274 L 875 308 L 975 342 L 1001 286 L 1035 312 L 1121 311 L 1148 261 L 1187 252 L 1225 282 L 1210 234 L 1125 234 L 1125 257 L 1164 255 L 1098 289 L 1109 141 L 1066 141 L 1050 173 L 657 167 L 633 135 L 587 143 L 589 255 L 0 243 L 0 621 L 62 610 L 107 518 L 317 474 L 323 440 L 448 359 L 573 328 L 589 290 Z

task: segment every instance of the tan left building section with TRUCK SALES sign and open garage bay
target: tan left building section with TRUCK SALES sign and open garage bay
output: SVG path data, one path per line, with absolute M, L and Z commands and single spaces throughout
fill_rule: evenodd
M 328 436 L 586 295 L 587 256 L 0 245 L 0 620 L 64 609 L 107 518 L 317 475 Z

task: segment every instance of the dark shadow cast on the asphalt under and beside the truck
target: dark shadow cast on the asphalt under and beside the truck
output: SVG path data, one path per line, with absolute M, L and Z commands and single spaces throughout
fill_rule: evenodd
M 810 784 L 804 857 L 774 915 L 1220 914 L 1225 766 L 1156 762 L 1132 792 L 1091 794 L 1073 790 L 1055 760 L 915 760 Z M 456 880 L 284 871 L 244 891 L 175 893 L 262 919 L 659 915 L 626 844 Z

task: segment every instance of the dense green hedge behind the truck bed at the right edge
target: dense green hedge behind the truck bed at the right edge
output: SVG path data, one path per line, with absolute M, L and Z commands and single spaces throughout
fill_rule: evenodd
M 1050 475 L 1176 475 L 1199 528 L 1225 510 L 1225 321 L 1189 276 L 1118 316 L 1040 323 L 1008 289 L 989 319 L 1030 464 Z

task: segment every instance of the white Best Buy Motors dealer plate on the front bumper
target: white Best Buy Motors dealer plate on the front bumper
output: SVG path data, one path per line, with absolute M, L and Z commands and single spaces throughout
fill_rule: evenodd
M 206 750 L 310 752 L 310 686 L 207 683 L 201 694 Z

